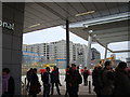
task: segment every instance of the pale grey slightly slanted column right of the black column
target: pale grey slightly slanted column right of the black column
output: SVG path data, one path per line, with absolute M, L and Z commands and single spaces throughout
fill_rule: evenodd
M 89 36 L 88 38 L 88 48 L 87 48 L 87 67 L 90 69 L 90 56 L 91 56 L 91 43 L 92 43 L 92 38 Z

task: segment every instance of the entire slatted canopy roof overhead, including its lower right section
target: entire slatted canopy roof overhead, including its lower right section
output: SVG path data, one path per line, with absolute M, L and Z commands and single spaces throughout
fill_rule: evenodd
M 112 42 L 129 41 L 130 3 L 116 1 L 26 2 L 24 33 L 65 25 L 68 19 L 73 33 L 88 40 L 89 30 L 93 30 L 93 41 L 104 47 Z

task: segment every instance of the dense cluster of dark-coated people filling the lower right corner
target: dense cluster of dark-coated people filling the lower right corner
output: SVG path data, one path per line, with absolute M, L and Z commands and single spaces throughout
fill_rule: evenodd
M 113 69 L 110 61 L 105 61 L 104 68 L 94 68 L 92 79 L 98 97 L 130 96 L 130 73 L 123 61 L 119 63 L 116 69 Z

